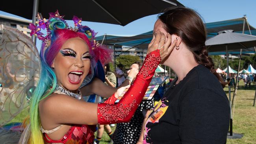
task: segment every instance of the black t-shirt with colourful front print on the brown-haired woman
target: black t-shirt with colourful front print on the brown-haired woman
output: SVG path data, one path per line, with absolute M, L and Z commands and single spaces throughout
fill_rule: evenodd
M 218 79 L 203 65 L 167 90 L 145 123 L 146 144 L 224 144 L 230 106 Z

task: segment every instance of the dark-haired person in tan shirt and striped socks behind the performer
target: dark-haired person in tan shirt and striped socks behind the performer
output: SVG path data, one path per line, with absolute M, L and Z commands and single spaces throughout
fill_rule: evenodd
M 113 72 L 110 72 L 109 64 L 106 64 L 104 66 L 104 71 L 105 71 L 105 84 L 115 88 L 117 84 L 117 79 L 115 78 L 115 74 Z M 113 133 L 112 133 L 111 127 L 107 124 L 107 125 L 98 125 L 97 135 L 94 140 L 96 144 L 100 143 L 104 130 L 106 131 L 109 138 L 111 139 L 109 143 L 110 144 L 113 143 L 113 140 L 112 140 Z

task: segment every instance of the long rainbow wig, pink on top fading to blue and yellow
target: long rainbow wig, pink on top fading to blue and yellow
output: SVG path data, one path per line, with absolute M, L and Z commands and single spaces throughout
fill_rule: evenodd
M 30 102 L 31 137 L 29 141 L 32 144 L 44 144 L 43 135 L 40 130 L 41 122 L 39 118 L 38 105 L 41 100 L 52 94 L 52 92 L 56 88 L 56 74 L 51 68 L 51 65 L 54 61 L 54 58 L 58 54 L 61 46 L 68 39 L 75 37 L 83 39 L 89 46 L 90 53 L 93 53 L 91 43 L 86 35 L 81 32 L 76 32 L 69 29 L 57 29 L 52 31 L 50 46 L 45 47 L 44 42 L 42 44 L 40 51 L 41 75 L 38 85 L 33 93 L 32 100 Z M 93 61 L 91 61 L 91 65 L 95 65 Z

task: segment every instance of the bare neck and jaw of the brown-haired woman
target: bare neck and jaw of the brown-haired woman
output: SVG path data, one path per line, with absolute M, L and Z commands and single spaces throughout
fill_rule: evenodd
M 169 66 L 178 76 L 176 84 L 184 79 L 190 70 L 199 65 L 193 53 L 187 48 L 180 48 L 179 50 L 174 48 L 174 51 L 166 61 L 166 66 Z

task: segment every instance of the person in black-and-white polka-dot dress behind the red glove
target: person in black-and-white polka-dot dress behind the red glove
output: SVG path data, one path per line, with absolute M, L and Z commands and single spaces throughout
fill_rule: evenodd
M 130 66 L 130 70 L 139 70 L 141 66 L 142 63 L 137 61 Z M 129 73 L 130 70 L 128 70 L 127 73 Z M 134 116 L 130 122 L 118 123 L 113 134 L 114 144 L 136 144 L 140 137 L 140 130 L 143 119 L 145 118 L 145 114 L 149 109 L 152 109 L 153 107 L 154 102 L 152 100 L 143 101 L 135 111 Z

